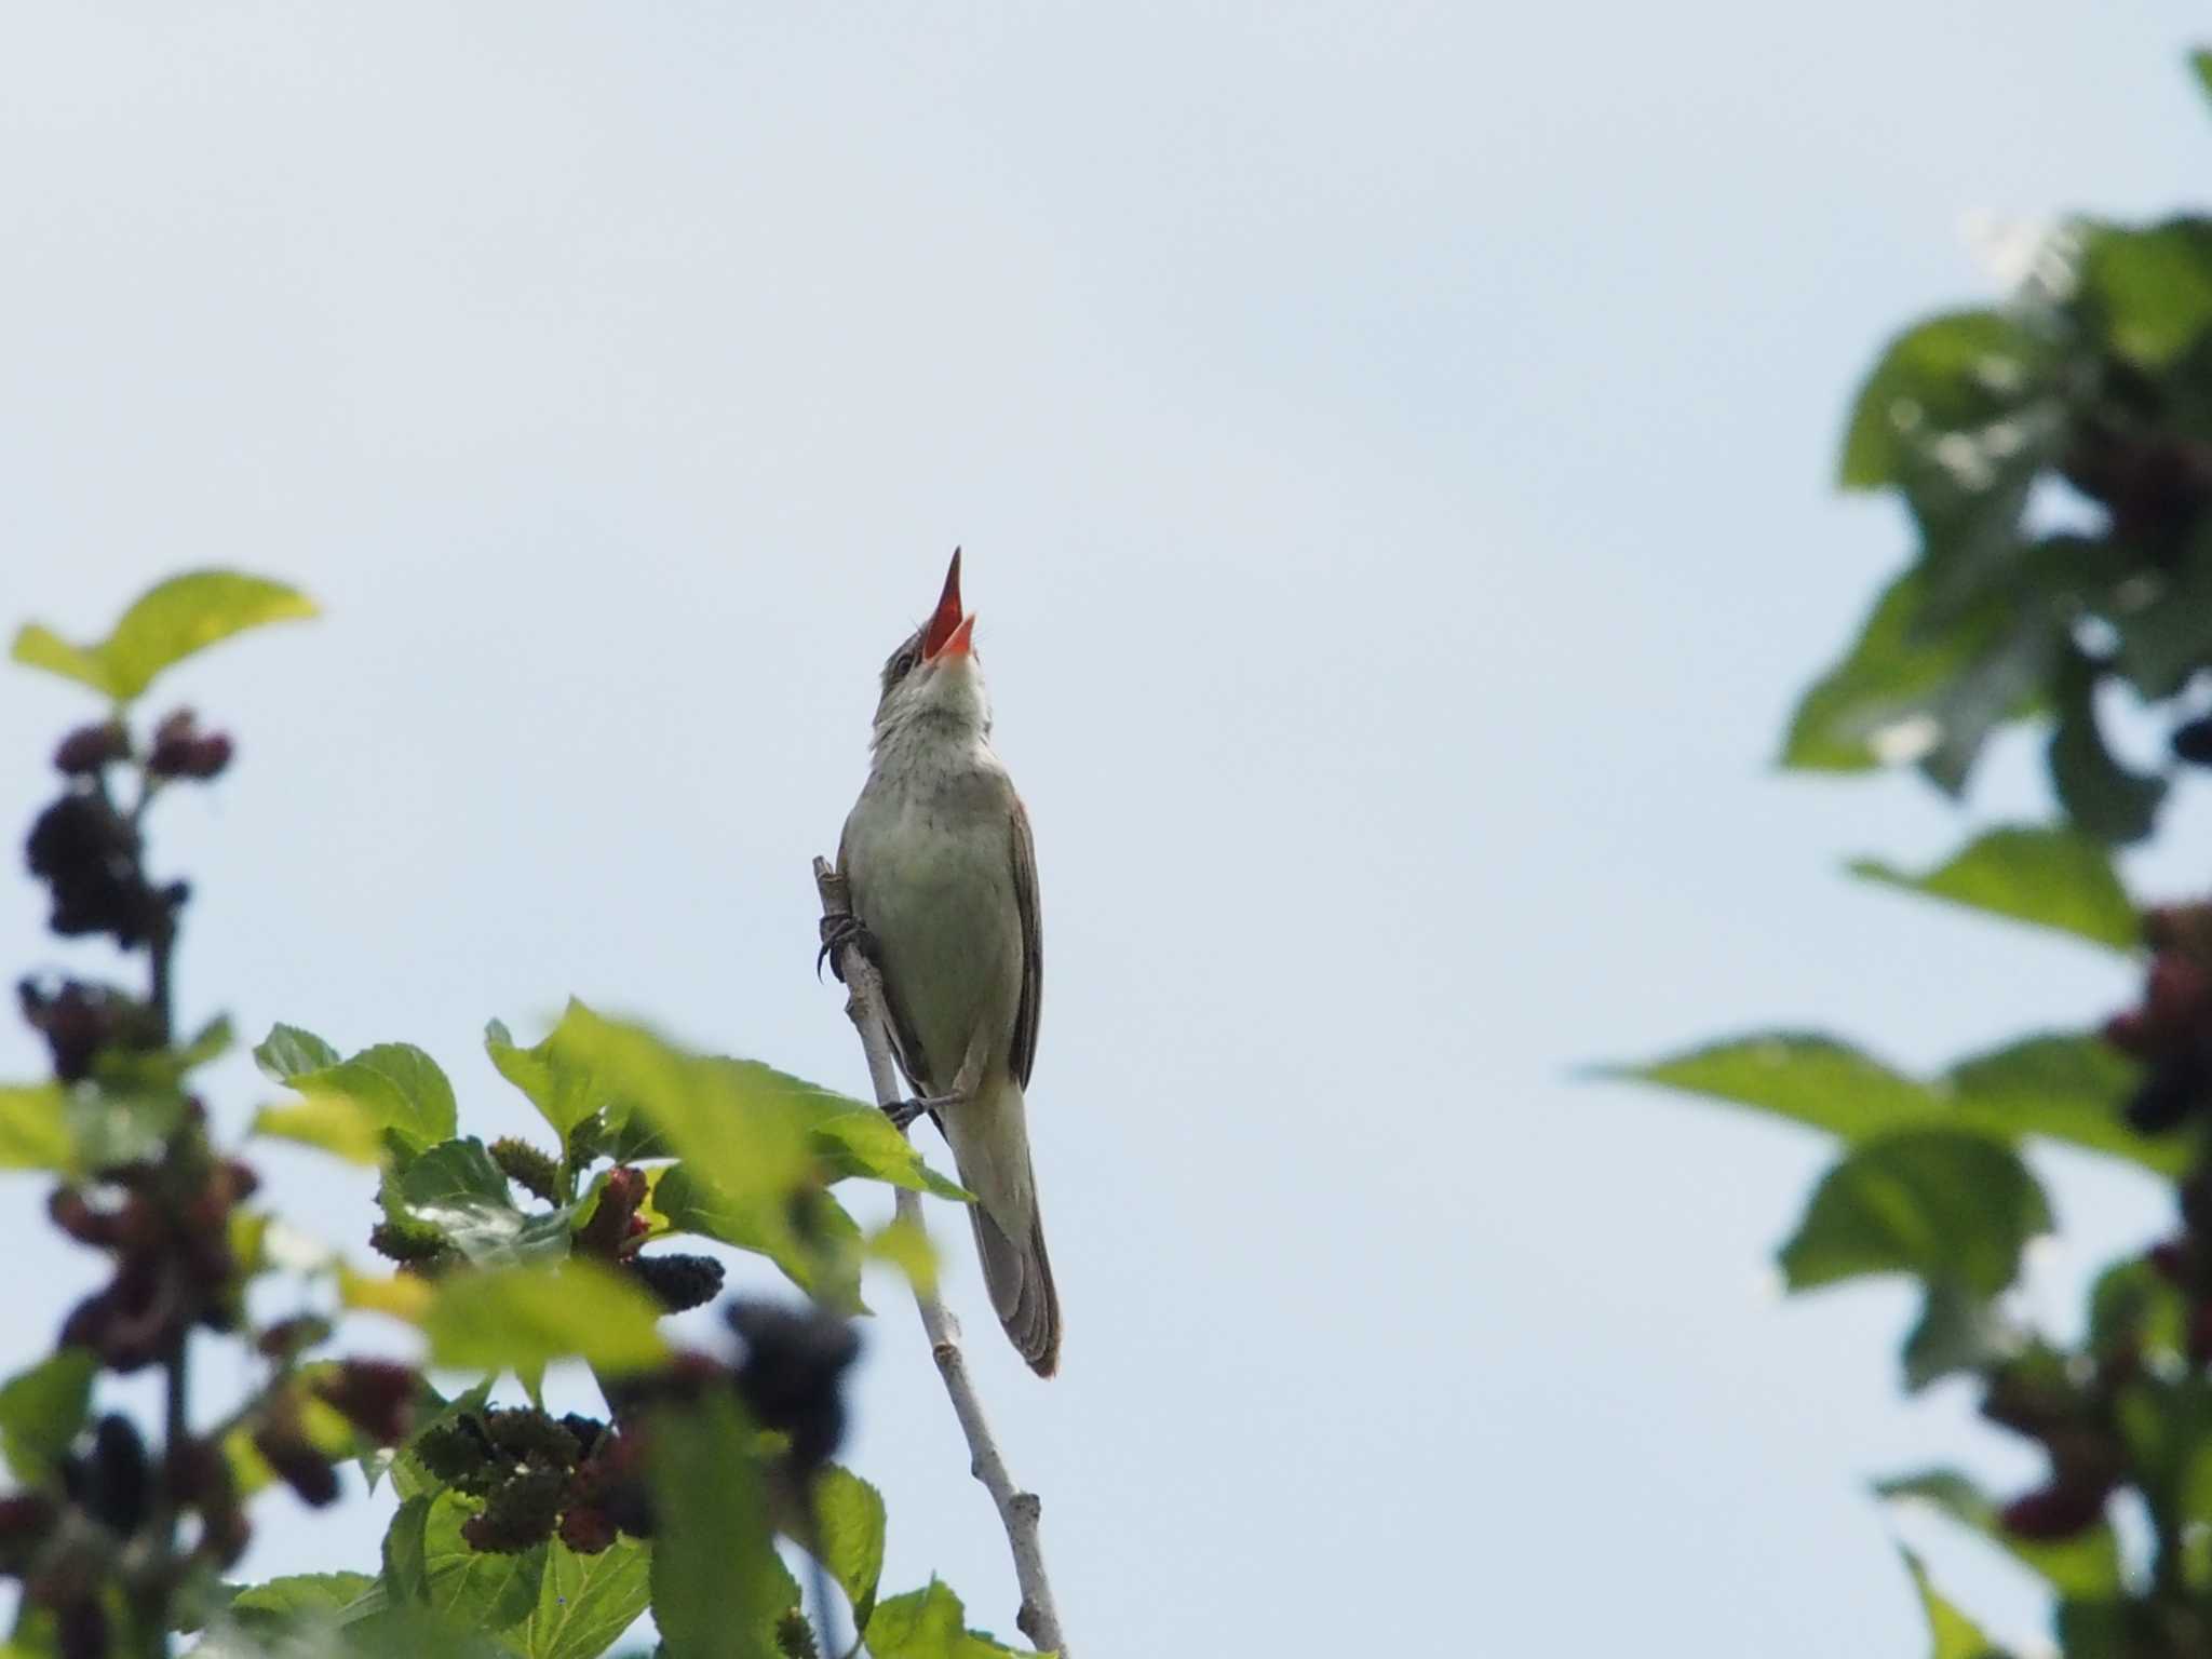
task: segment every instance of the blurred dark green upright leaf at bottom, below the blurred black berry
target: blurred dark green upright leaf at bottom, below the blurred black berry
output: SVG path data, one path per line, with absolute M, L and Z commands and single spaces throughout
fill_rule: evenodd
M 679 1659 L 779 1659 L 792 1606 L 754 1433 L 728 1394 L 653 1425 L 653 1621 Z M 889 1659 L 887 1655 L 883 1659 Z

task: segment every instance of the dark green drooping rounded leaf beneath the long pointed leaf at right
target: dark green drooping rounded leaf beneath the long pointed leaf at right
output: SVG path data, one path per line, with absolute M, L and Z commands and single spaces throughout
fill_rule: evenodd
M 1995 1296 L 2051 1206 L 2020 1157 L 1986 1135 L 1900 1130 L 1851 1150 L 1814 1188 L 1781 1248 L 1790 1290 L 1907 1272 Z

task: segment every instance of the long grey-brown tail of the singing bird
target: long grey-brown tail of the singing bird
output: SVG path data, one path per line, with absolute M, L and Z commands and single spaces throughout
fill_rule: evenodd
M 1044 1254 L 1044 1214 L 1037 1208 L 1037 1175 L 1029 1161 L 1029 1130 L 1022 1091 L 1011 1079 L 975 1102 L 947 1113 L 960 1183 L 975 1194 L 969 1223 L 991 1307 L 1015 1354 L 1037 1376 L 1060 1365 L 1060 1292 L 1053 1261 Z

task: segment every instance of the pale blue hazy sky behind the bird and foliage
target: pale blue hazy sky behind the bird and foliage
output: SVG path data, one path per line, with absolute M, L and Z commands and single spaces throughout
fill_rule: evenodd
M 1082 1655 L 1920 1648 L 1865 1478 L 2026 1460 L 1896 1402 L 1902 1294 L 1774 1301 L 1816 1141 L 1571 1071 L 2124 998 L 1836 876 L 1951 845 L 1927 792 L 1767 761 L 1905 551 L 1829 493 L 1856 376 L 1986 292 L 1969 215 L 2190 197 L 2194 7 L 0 18 L 0 619 L 192 564 L 330 613 L 175 681 L 241 750 L 159 825 L 188 1013 L 420 1042 L 487 1133 L 482 1022 L 571 991 L 860 1088 L 807 858 L 964 542 L 1064 1376 L 969 1323 Z M 0 818 L 80 712 L 4 681 Z M 2033 807 L 2020 745 L 1989 785 Z M 40 918 L 0 883 L 11 971 L 84 956 Z M 358 1243 L 365 1179 L 263 1161 Z M 2095 1248 L 2157 1225 L 2044 1168 Z M 40 1199 L 0 1183 L 9 1237 Z M 31 1349 L 91 1261 L 15 1263 Z M 889 1579 L 1011 1630 L 880 1301 Z M 272 1502 L 250 1566 L 372 1559 L 365 1509 Z

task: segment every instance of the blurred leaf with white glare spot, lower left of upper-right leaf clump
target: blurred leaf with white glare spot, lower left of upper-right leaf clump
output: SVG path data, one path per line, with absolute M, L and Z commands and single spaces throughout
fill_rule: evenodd
M 1798 701 L 1785 768 L 1920 763 L 1955 792 L 1989 730 L 2035 706 L 2055 648 L 2042 608 L 2000 599 L 1927 626 L 1924 604 L 1918 568 L 1882 591 L 1845 659 Z

